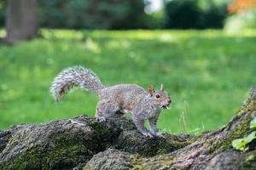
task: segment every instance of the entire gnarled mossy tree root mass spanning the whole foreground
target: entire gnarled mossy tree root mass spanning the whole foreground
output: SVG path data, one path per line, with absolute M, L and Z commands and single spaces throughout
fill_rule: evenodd
M 0 131 L 0 169 L 256 169 L 255 142 L 247 151 L 231 146 L 251 133 L 255 115 L 252 88 L 227 125 L 200 136 L 148 139 L 126 118 L 21 124 Z

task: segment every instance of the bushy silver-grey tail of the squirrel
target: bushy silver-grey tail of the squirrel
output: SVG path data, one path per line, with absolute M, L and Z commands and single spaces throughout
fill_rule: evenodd
M 50 87 L 50 93 L 55 100 L 60 100 L 64 94 L 75 87 L 79 86 L 90 92 L 98 94 L 99 90 L 104 88 L 101 80 L 93 71 L 85 69 L 82 66 L 69 67 L 55 77 Z

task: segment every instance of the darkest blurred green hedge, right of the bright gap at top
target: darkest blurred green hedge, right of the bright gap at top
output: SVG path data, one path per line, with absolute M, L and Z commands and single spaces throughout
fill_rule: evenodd
M 227 1 L 214 3 L 201 0 L 166 1 L 166 28 L 205 29 L 222 28 L 226 17 Z

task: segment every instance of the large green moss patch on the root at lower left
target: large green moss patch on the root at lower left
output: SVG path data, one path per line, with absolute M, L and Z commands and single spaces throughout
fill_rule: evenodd
M 21 152 L 17 158 L 9 161 L 8 165 L 3 165 L 3 167 L 6 169 L 72 168 L 79 162 L 88 161 L 95 154 L 94 141 L 86 143 L 90 149 L 86 148 L 82 142 L 82 139 L 67 137 L 65 134 L 56 136 L 47 145 L 35 145 L 26 152 Z

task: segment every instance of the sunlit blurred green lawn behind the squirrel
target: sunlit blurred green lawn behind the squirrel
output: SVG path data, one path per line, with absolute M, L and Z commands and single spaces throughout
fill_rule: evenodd
M 1 35 L 3 35 L 3 31 Z M 172 109 L 158 126 L 169 133 L 197 133 L 224 125 L 256 84 L 256 31 L 41 30 L 42 38 L 0 46 L 0 128 L 94 116 L 97 98 L 75 89 L 61 103 L 49 85 L 64 68 L 83 65 L 105 85 L 160 83 Z

